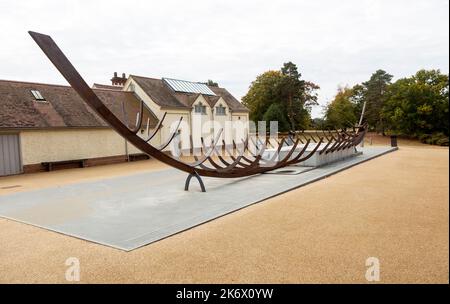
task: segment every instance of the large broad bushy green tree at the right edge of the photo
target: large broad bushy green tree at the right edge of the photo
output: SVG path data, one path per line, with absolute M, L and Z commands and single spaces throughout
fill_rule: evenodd
M 448 81 L 439 70 L 420 70 L 392 84 L 382 111 L 389 130 L 412 137 L 436 132 L 448 136 Z

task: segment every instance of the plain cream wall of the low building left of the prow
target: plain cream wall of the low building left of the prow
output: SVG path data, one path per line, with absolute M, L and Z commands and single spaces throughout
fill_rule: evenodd
M 112 129 L 26 130 L 20 132 L 23 165 L 126 154 L 125 140 Z M 128 143 L 128 154 L 142 153 Z

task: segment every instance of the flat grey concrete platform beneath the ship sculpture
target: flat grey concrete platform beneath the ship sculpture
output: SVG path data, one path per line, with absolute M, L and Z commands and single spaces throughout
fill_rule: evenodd
M 394 150 L 364 148 L 301 174 L 204 178 L 206 193 L 194 179 L 184 191 L 175 169 L 19 192 L 0 196 L 0 216 L 129 251 Z

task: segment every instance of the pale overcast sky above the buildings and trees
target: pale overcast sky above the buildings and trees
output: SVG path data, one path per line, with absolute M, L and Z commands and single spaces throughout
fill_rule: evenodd
M 449 70 L 448 0 L 75 2 L 0 0 L 0 79 L 66 84 L 28 30 L 51 35 L 90 84 L 114 71 L 213 79 L 239 99 L 287 61 L 322 105 L 377 69 Z

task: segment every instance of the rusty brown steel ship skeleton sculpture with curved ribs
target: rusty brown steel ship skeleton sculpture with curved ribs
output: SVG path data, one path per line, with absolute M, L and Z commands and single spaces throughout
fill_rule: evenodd
M 359 124 L 353 127 L 351 131 L 343 129 L 334 132 L 320 131 L 314 134 L 293 133 L 293 135 L 275 142 L 269 139 L 261 141 L 258 137 L 247 136 L 241 143 L 233 141 L 233 148 L 230 149 L 223 140 L 221 145 L 219 145 L 223 132 L 223 130 L 219 130 L 209 145 L 202 140 L 201 155 L 194 156 L 194 161 L 187 162 L 179 156 L 163 152 L 176 138 L 178 128 L 160 146 L 150 144 L 150 140 L 160 132 L 166 114 L 159 120 L 152 132 L 148 132 L 149 134 L 145 137 L 139 136 L 137 133 L 142 127 L 144 112 L 144 101 L 142 99 L 140 100 L 137 122 L 134 127 L 130 128 L 129 124 L 122 122 L 100 100 L 50 36 L 32 31 L 29 34 L 79 96 L 117 133 L 149 156 L 186 172 L 188 176 L 185 190 L 189 189 L 192 177 L 198 180 L 201 190 L 205 192 L 202 176 L 215 178 L 246 177 L 301 164 L 315 153 L 323 155 L 324 153 L 329 154 L 347 149 L 356 149 L 356 146 L 363 141 L 367 131 L 366 124 Z M 178 127 L 181 120 L 182 118 L 178 121 Z M 219 146 L 221 147 L 219 148 Z M 192 137 L 191 149 L 193 149 Z M 218 153 L 220 149 L 227 153 L 227 157 Z M 265 154 L 265 151 L 268 149 L 274 151 L 271 157 L 267 157 Z M 281 153 L 282 149 L 283 153 Z

